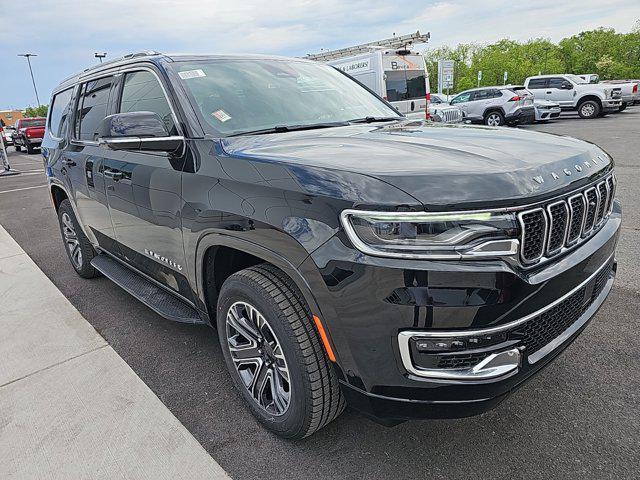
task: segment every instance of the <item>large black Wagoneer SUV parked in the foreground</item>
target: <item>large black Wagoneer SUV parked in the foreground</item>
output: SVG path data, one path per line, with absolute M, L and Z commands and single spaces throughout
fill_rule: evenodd
M 290 438 L 347 403 L 390 425 L 496 406 L 616 271 L 597 146 L 409 121 L 306 60 L 128 55 L 55 89 L 43 147 L 78 274 L 217 326 Z

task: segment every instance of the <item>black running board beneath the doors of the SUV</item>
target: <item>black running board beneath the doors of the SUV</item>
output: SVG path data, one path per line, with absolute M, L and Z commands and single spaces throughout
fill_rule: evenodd
M 158 315 L 174 322 L 204 323 L 195 308 L 108 255 L 96 255 L 91 265 Z

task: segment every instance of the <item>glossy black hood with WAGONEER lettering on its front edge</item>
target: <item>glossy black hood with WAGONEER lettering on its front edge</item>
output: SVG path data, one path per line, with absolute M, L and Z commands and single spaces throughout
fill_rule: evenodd
M 222 147 L 236 157 L 374 177 L 427 209 L 531 203 L 612 168 L 598 147 L 570 137 L 421 122 L 231 137 Z

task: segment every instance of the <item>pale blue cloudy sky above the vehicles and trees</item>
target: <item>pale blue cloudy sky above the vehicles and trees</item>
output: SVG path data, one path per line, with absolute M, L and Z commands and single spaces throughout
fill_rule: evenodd
M 303 56 L 420 30 L 427 47 L 501 38 L 558 41 L 580 31 L 630 31 L 640 0 L 0 0 L 0 109 L 41 103 L 63 78 L 130 52 Z

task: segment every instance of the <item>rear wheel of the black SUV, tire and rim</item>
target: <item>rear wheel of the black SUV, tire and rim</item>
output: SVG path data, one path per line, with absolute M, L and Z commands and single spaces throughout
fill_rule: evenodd
M 60 202 L 58 207 L 58 223 L 60 224 L 64 249 L 76 273 L 82 278 L 97 277 L 99 273 L 91 265 L 91 259 L 96 255 L 96 252 L 80 228 L 73 208 L 71 208 L 71 202 L 67 199 Z

